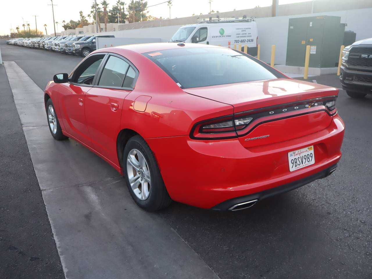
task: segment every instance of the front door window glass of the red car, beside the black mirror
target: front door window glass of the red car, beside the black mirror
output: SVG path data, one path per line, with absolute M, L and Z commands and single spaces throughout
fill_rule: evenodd
M 81 64 L 74 72 L 73 82 L 80 84 L 93 84 L 94 76 L 105 55 L 93 55 Z

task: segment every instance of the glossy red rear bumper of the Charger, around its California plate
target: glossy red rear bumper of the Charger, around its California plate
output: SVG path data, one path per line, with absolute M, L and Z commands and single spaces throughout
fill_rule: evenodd
M 174 201 L 228 209 L 229 201 L 259 200 L 267 196 L 264 191 L 280 193 L 280 186 L 290 185 L 287 189 L 291 190 L 292 185 L 299 187 L 324 177 L 341 158 L 343 136 L 344 123 L 335 115 L 321 131 L 250 148 L 237 139 L 200 141 L 179 136 L 146 141 Z M 314 145 L 315 164 L 290 172 L 288 152 L 310 145 Z

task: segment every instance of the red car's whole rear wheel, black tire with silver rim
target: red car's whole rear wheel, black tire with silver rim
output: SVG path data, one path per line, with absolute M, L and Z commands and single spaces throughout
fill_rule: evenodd
M 155 156 L 140 135 L 131 137 L 125 145 L 122 166 L 129 193 L 138 206 L 157 211 L 170 205 L 172 200 Z

